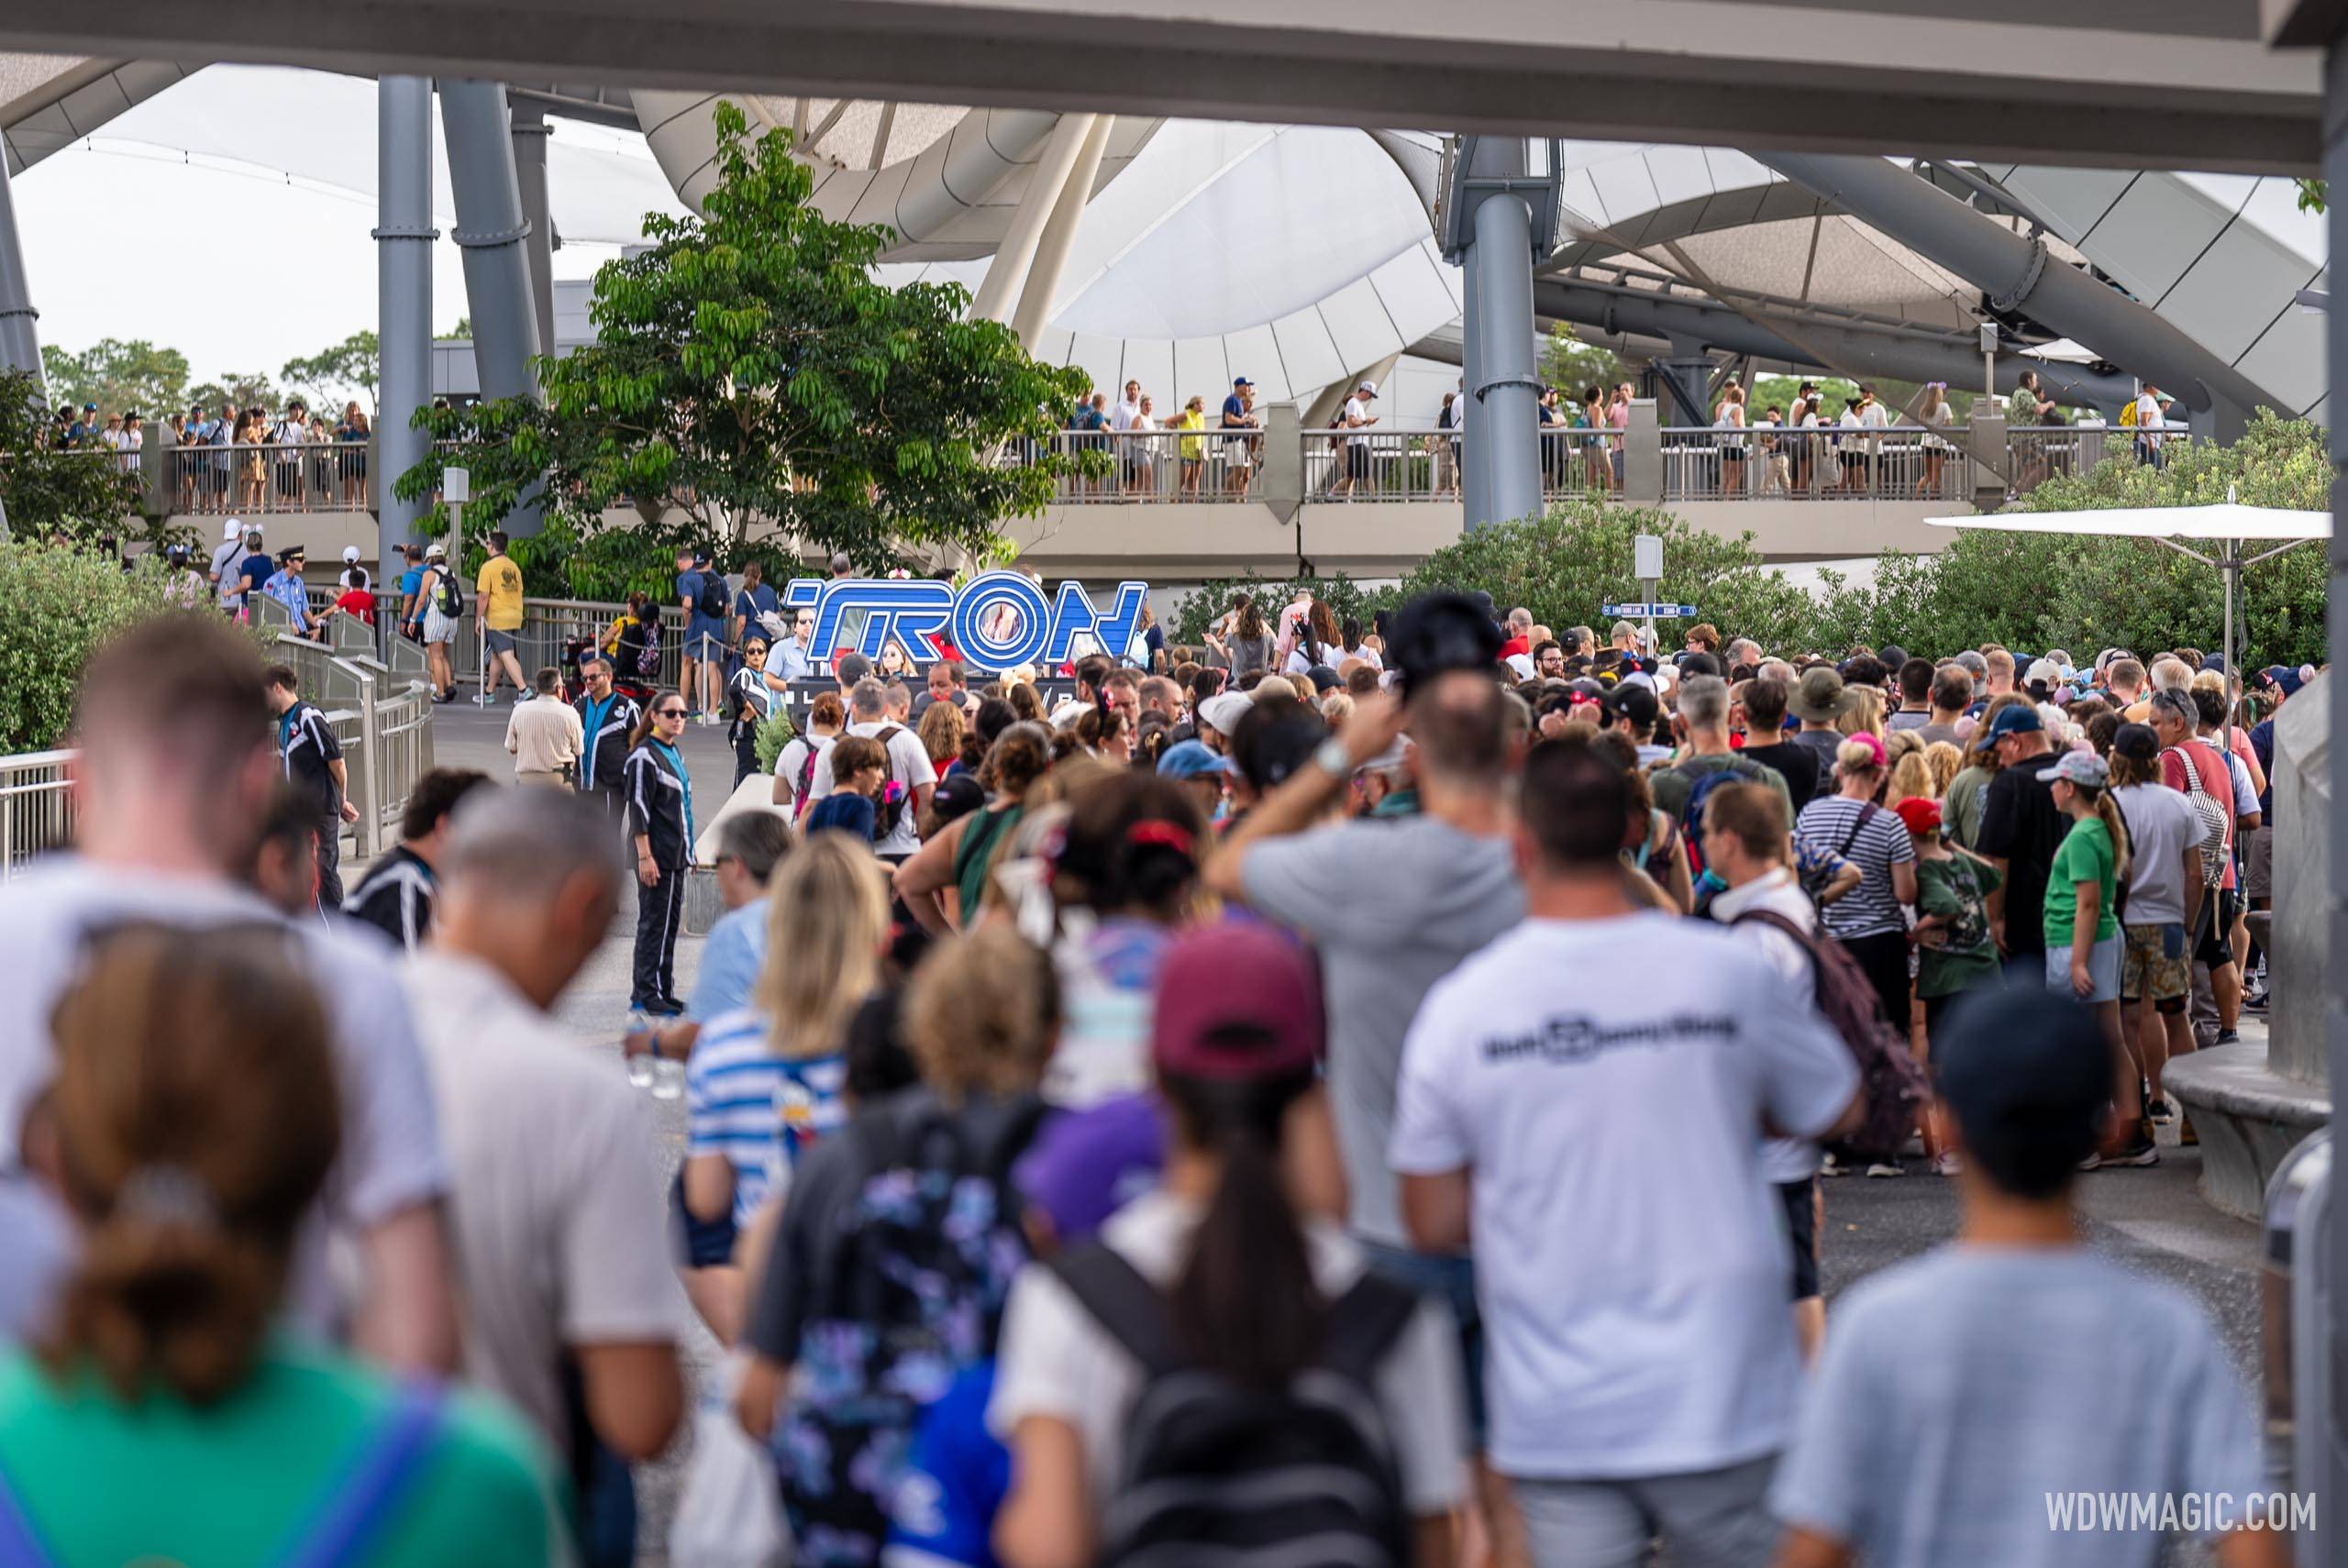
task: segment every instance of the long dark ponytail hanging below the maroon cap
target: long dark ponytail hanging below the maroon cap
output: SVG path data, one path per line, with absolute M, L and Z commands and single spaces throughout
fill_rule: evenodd
M 1223 1164 L 1174 1277 L 1174 1343 L 1240 1387 L 1280 1387 L 1320 1357 L 1329 1331 L 1303 1221 L 1280 1178 L 1287 1113 L 1313 1077 L 1221 1082 L 1165 1073 L 1160 1087 L 1181 1136 Z

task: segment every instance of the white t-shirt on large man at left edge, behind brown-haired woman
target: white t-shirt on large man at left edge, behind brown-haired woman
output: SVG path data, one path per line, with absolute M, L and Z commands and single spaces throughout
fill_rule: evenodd
M 291 932 L 326 1005 L 343 1075 L 343 1153 L 319 1204 L 326 1225 L 305 1225 L 289 1303 L 296 1319 L 331 1329 L 338 1303 L 326 1282 L 326 1228 L 355 1235 L 448 1190 L 416 1026 L 392 951 L 376 932 L 289 922 L 218 878 L 124 871 L 77 854 L 56 854 L 0 883 L 0 953 L 9 962 L 9 984 L 0 986 L 0 1167 L 16 1164 L 23 1113 L 56 1070 L 49 1012 L 59 991 L 80 972 L 87 939 L 127 920 Z

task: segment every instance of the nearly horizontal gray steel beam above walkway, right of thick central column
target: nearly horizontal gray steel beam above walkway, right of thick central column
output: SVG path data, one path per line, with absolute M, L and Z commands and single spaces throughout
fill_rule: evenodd
M 1982 352 L 1954 338 L 1935 343 L 1925 333 L 1909 331 L 1874 331 L 1817 319 L 1784 322 L 1782 326 L 1801 338 L 1796 343 L 1773 331 L 1773 319 L 1766 312 L 1747 319 L 1709 300 L 1665 296 L 1648 289 L 1545 279 L 1533 284 L 1533 310 L 1552 322 L 1597 326 L 1606 333 L 1658 338 L 1665 343 L 1700 343 L 1733 354 L 1754 354 L 1756 359 L 1829 373 L 1946 380 L 1956 387 L 1977 387 L 1982 376 Z M 2038 371 L 2047 397 L 2064 404 L 2116 408 L 2123 397 L 2134 394 L 2134 383 L 2125 376 L 2106 376 L 2085 366 L 2029 359 L 2024 354 L 1998 354 L 1998 390 L 2012 392 L 2022 383 L 2022 371 Z

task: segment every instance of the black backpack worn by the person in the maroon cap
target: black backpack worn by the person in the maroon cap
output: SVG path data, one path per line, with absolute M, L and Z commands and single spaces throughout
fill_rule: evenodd
M 1106 1246 L 1050 1263 L 1141 1364 L 1094 1563 L 1402 1568 L 1409 1507 L 1374 1378 L 1418 1312 L 1362 1275 L 1329 1310 L 1320 1364 L 1284 1390 L 1237 1387 L 1174 1350 L 1165 1296 Z

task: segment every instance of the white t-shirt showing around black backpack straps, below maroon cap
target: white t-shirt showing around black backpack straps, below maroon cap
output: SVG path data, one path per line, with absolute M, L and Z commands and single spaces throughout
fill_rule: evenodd
M 1146 1279 L 1169 1286 L 1200 1211 L 1169 1192 L 1146 1192 L 1101 1225 L 1101 1242 Z M 1362 1249 L 1327 1221 L 1305 1225 L 1313 1279 L 1336 1298 L 1362 1277 Z M 1782 1293 L 1782 1291 L 1780 1291 Z M 1432 1300 L 1402 1331 L 1378 1368 L 1378 1411 L 1395 1439 L 1402 1498 L 1413 1516 L 1449 1512 L 1463 1495 L 1468 1408 L 1458 1333 Z M 1010 1441 L 1028 1415 L 1052 1415 L 1082 1437 L 1094 1512 L 1118 1486 L 1125 1422 L 1141 1394 L 1141 1368 L 1050 1270 L 1026 1265 L 1003 1307 L 996 1392 L 986 1427 Z

